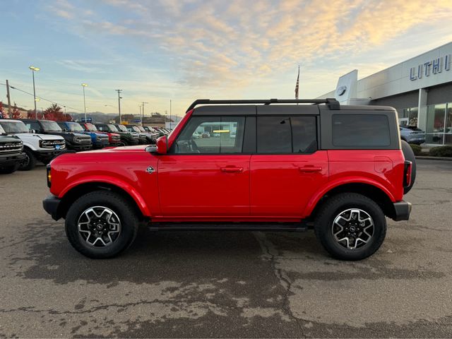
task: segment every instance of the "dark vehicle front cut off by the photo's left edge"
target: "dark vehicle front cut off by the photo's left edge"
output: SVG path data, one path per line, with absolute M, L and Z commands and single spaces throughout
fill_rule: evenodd
M 7 136 L 0 125 L 0 174 L 16 172 L 24 159 L 23 142 L 17 136 Z

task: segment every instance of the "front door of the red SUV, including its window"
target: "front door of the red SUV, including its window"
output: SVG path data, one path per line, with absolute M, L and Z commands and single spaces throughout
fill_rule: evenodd
M 246 117 L 192 116 L 167 155 L 159 156 L 163 217 L 249 215 Z

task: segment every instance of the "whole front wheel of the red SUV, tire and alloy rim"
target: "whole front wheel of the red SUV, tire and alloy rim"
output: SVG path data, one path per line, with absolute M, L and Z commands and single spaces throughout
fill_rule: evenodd
M 110 258 L 127 249 L 138 231 L 138 215 L 129 201 L 110 191 L 78 198 L 66 215 L 66 235 L 89 258 Z

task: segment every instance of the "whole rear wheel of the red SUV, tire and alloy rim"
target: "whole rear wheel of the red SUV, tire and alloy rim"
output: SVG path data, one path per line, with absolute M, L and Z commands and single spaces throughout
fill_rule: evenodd
M 317 213 L 316 237 L 331 256 L 362 260 L 380 248 L 386 236 L 386 218 L 375 201 L 362 194 L 328 198 Z

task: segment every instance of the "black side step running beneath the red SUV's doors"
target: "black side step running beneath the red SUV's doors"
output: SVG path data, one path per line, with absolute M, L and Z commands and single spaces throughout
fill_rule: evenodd
M 283 231 L 306 232 L 307 223 L 259 223 L 259 222 L 158 222 L 149 223 L 151 231 Z

